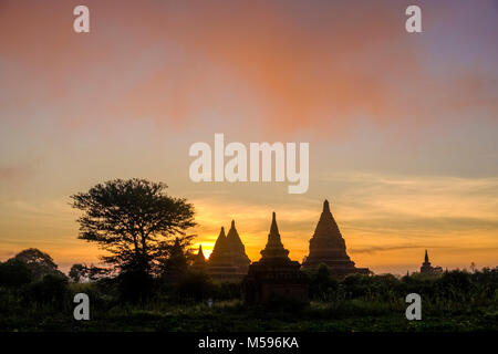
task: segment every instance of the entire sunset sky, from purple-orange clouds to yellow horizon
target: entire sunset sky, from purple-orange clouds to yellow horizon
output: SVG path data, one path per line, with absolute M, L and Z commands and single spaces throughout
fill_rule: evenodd
M 486 0 L 0 0 L 0 260 L 97 263 L 70 196 L 138 177 L 194 204 L 206 254 L 235 219 L 258 260 L 276 211 L 301 261 L 329 199 L 357 267 L 498 266 L 497 34 Z M 193 183 L 215 133 L 309 143 L 308 191 Z

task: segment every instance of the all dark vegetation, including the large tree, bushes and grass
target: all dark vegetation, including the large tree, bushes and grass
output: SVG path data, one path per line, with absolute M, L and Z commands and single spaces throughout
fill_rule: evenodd
M 498 268 L 439 275 L 351 275 L 325 266 L 309 273 L 310 305 L 243 303 L 240 283 L 212 281 L 193 267 L 193 207 L 163 184 L 113 180 L 73 196 L 80 238 L 96 242 L 111 268 L 74 264 L 28 249 L 0 262 L 0 331 L 496 331 Z M 84 292 L 90 321 L 75 321 Z M 422 321 L 405 296 L 422 295 Z

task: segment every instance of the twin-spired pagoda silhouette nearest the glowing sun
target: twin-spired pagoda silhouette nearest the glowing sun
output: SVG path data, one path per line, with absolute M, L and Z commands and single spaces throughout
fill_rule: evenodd
M 241 280 L 247 274 L 250 260 L 231 221 L 228 236 L 221 227 L 215 248 L 209 257 L 208 273 L 217 280 Z

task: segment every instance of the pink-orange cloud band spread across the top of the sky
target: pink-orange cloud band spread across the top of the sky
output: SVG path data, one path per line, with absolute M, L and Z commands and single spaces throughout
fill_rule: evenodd
M 467 108 L 497 116 L 496 74 L 455 65 L 433 77 L 427 67 L 437 7 L 427 4 L 428 33 L 417 38 L 404 31 L 404 4 L 391 1 L 86 3 L 90 34 L 72 31 L 75 1 L 1 2 L 0 52 L 14 67 L 3 105 L 30 101 L 70 126 L 188 127 L 212 113 L 321 136 L 360 118 L 419 126 Z

